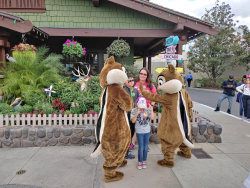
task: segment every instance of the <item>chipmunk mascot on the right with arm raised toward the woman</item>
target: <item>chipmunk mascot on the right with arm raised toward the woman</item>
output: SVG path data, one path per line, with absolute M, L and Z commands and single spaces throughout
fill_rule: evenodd
M 191 108 L 193 102 L 186 90 L 182 89 L 182 76 L 175 71 L 172 64 L 168 64 L 168 69 L 164 70 L 157 77 L 157 90 L 164 94 L 156 95 L 143 89 L 142 95 L 150 101 L 163 104 L 162 117 L 159 123 L 157 136 L 161 141 L 161 150 L 164 159 L 157 163 L 160 166 L 174 167 L 175 150 L 179 147 L 178 155 L 191 158 Z

